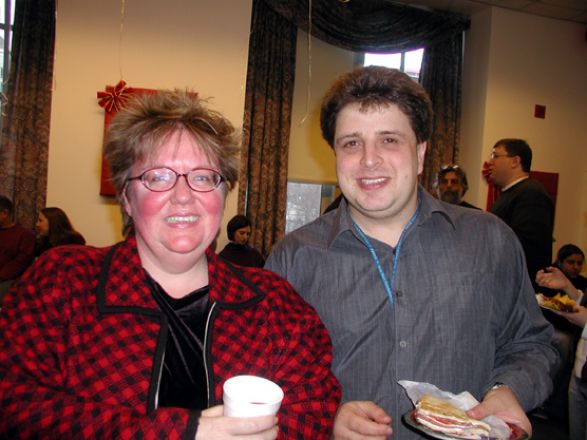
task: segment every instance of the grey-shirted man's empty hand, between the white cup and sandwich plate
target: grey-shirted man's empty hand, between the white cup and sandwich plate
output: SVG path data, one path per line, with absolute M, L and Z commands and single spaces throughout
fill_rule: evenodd
M 385 440 L 392 432 L 391 417 L 373 402 L 343 403 L 334 419 L 335 440 Z

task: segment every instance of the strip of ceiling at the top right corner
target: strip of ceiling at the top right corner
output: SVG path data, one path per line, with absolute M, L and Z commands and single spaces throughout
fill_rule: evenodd
M 587 0 L 399 0 L 403 3 L 471 15 L 490 6 L 587 24 Z

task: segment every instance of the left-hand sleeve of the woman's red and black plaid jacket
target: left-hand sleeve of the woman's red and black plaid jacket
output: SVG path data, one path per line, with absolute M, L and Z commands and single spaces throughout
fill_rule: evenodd
M 67 263 L 54 253 L 41 257 L 2 307 L 0 438 L 193 439 L 195 412 L 165 408 L 145 415 L 134 408 L 80 398 L 63 386 L 70 371 L 66 368 L 70 341 L 77 336 L 68 330 L 77 311 L 70 286 L 78 280 L 77 273 L 63 266 Z M 107 386 L 108 379 L 101 379 Z

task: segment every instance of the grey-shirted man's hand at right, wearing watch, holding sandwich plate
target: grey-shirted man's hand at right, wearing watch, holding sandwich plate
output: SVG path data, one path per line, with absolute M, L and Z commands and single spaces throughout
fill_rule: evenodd
M 507 423 L 522 428 L 532 436 L 532 425 L 526 417 L 526 413 L 520 406 L 515 394 L 508 387 L 501 387 L 489 391 L 483 398 L 483 402 L 467 411 L 470 417 L 483 419 L 493 415 Z

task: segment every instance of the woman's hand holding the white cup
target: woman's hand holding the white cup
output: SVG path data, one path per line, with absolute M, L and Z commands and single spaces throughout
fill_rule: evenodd
M 277 438 L 277 417 L 224 417 L 222 405 L 202 411 L 196 440 L 273 440 Z

